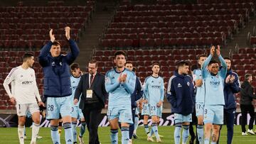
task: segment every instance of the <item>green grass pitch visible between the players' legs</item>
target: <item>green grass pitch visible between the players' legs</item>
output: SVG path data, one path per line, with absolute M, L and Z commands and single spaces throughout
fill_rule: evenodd
M 194 128 L 195 130 L 195 128 Z M 27 131 L 27 139 L 25 140 L 25 143 L 30 143 L 31 140 L 31 128 L 26 128 Z M 77 131 L 79 133 L 79 128 L 77 128 Z M 164 138 L 161 138 L 162 143 L 174 143 L 174 126 L 159 126 L 159 133 L 161 135 L 164 135 Z M 220 136 L 220 143 L 224 144 L 226 143 L 227 137 L 227 129 L 225 126 L 223 126 L 223 130 L 221 131 Z M 50 138 L 50 128 L 41 128 L 39 135 L 43 136 L 43 138 L 38 140 L 38 144 L 46 144 L 46 143 L 52 143 Z M 139 126 L 137 130 L 138 139 L 133 140 L 133 143 L 138 144 L 149 144 L 150 142 L 146 141 L 146 134 L 144 132 L 144 128 L 142 126 Z M 61 133 L 61 143 L 65 143 L 64 140 L 65 133 L 62 131 Z M 102 144 L 110 143 L 110 127 L 101 127 L 99 128 L 99 137 L 100 142 Z M 85 131 L 84 135 L 85 143 L 88 143 L 88 131 Z M 119 131 L 119 143 L 121 143 L 121 133 Z M 12 144 L 12 143 L 18 143 L 18 133 L 17 128 L 0 128 L 0 143 L 6 143 L 6 144 Z M 188 142 L 187 142 L 188 143 Z M 234 128 L 234 137 L 233 137 L 233 143 L 234 144 L 255 144 L 256 143 L 256 135 L 241 135 L 241 127 L 235 126 Z

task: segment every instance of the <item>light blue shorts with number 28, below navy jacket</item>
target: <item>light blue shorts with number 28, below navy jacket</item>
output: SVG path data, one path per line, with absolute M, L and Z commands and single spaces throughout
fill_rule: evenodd
M 59 119 L 60 116 L 71 116 L 70 97 L 47 97 L 47 119 Z

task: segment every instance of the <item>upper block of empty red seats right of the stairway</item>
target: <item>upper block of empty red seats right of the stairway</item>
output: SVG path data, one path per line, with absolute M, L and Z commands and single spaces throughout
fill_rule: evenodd
M 255 1 L 132 5 L 124 2 L 102 35 L 104 48 L 225 45 L 254 16 Z

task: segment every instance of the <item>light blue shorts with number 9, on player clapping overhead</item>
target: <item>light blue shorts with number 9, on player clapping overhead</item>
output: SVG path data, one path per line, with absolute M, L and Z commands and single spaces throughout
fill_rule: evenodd
M 223 105 L 204 106 L 203 122 L 222 125 L 223 115 L 224 115 L 223 109 L 224 109 Z

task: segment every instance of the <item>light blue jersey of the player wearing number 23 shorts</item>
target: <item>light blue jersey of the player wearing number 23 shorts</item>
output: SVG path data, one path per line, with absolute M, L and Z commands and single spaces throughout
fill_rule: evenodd
M 164 101 L 164 79 L 161 77 L 146 77 L 144 82 L 144 96 L 149 104 Z

